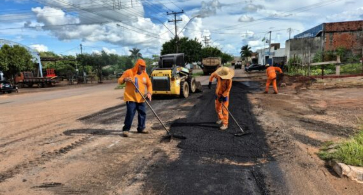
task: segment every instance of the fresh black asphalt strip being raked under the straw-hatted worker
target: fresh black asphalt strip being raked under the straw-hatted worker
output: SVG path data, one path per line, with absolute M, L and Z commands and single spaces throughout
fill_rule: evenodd
M 230 94 L 229 110 L 251 132 L 242 137 L 233 136 L 240 130 L 231 117 L 227 131 L 215 124 L 212 89 L 188 97 L 196 105 L 187 118 L 171 125 L 172 133 L 187 137 L 178 144 L 180 156 L 171 163 L 160 160 L 150 168 L 145 194 L 289 194 L 278 164 L 270 157 L 265 133 L 252 114 L 247 98 L 251 90 L 233 82 Z M 266 174 L 274 182 L 266 183 Z

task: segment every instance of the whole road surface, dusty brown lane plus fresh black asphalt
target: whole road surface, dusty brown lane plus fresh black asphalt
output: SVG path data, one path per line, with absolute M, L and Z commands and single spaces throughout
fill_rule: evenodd
M 276 148 L 270 148 L 252 112 L 248 96 L 261 89 L 251 76 L 237 70 L 230 96 L 230 111 L 250 132 L 242 137 L 233 135 L 239 130 L 232 118 L 227 131 L 215 124 L 208 76 L 197 77 L 203 93 L 150 102 L 170 131 L 185 140 L 163 139 L 165 130 L 150 109 L 150 134 L 136 133 L 135 117 L 131 136 L 120 136 L 126 110 L 116 84 L 0 96 L 0 195 L 338 194 L 314 185 L 310 172 L 303 179 L 319 193 L 300 190 L 305 185 L 291 173 L 297 167 L 296 174 L 305 174 L 301 166 L 286 157 L 286 169 L 275 158 Z M 276 147 L 291 153 L 287 143 Z

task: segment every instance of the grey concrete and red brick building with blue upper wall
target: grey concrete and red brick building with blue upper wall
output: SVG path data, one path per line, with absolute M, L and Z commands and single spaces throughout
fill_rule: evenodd
M 344 47 L 355 55 L 363 52 L 363 20 L 323 23 L 286 41 L 287 61 L 294 56 L 309 63 L 317 52 Z

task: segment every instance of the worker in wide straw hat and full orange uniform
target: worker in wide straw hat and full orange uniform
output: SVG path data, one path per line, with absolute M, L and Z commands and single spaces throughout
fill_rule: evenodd
M 209 83 L 213 81 L 214 78 L 217 79 L 216 86 L 216 112 L 218 115 L 217 124 L 223 124 L 219 129 L 224 131 L 228 128 L 228 101 L 229 101 L 229 91 L 232 87 L 232 78 L 234 76 L 234 70 L 227 67 L 218 68 L 212 75 L 209 77 Z M 208 86 L 210 86 L 209 84 Z M 222 104 L 225 106 L 223 107 Z

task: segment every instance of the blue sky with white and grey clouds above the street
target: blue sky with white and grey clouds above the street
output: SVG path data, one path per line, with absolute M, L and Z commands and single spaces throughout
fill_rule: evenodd
M 288 28 L 295 35 L 323 22 L 363 20 L 361 0 L 0 0 L 0 7 L 0 39 L 63 55 L 80 53 L 79 44 L 89 53 L 128 55 L 138 47 L 144 56 L 159 54 L 174 37 L 166 12 L 181 9 L 178 33 L 192 20 L 180 37 L 210 36 L 232 55 L 244 44 L 263 48 L 270 30 L 272 43 L 284 47 Z

